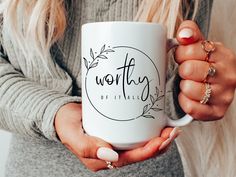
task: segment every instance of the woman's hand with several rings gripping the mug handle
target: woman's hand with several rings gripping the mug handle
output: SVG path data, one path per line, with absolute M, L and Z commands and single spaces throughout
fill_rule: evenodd
M 221 119 L 231 104 L 236 87 L 236 56 L 223 44 L 214 42 L 215 50 L 209 55 L 203 49 L 204 41 L 198 26 L 184 21 L 178 30 L 175 58 L 179 65 L 179 104 L 182 109 L 198 120 Z M 212 46 L 210 46 L 212 47 Z M 209 68 L 215 69 L 213 76 Z M 210 98 L 200 103 L 206 95 L 206 83 L 210 84 Z

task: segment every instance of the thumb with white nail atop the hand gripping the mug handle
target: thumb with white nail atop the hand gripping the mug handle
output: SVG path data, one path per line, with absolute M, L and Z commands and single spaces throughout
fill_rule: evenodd
M 191 20 L 183 21 L 177 31 L 177 40 L 180 45 L 188 45 L 203 40 L 204 37 L 198 25 Z

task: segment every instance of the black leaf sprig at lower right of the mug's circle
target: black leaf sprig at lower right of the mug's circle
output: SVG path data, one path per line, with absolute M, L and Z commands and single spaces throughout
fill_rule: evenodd
M 161 108 L 159 108 L 157 105 L 156 105 L 156 103 L 158 102 L 158 101 L 160 101 L 161 99 L 163 99 L 164 98 L 164 95 L 161 95 L 161 96 L 159 96 L 159 94 L 160 94 L 160 91 L 159 91 L 159 89 L 156 87 L 156 98 L 153 96 L 153 95 L 151 95 L 150 94 L 150 101 L 151 101 L 151 105 L 149 105 L 149 104 L 147 104 L 147 105 L 145 105 L 144 107 L 143 107 L 143 113 L 141 114 L 141 116 L 140 117 L 145 117 L 145 118 L 149 118 L 149 119 L 155 119 L 155 117 L 153 116 L 153 115 L 151 115 L 151 114 L 149 114 L 150 113 L 150 111 L 151 110 L 153 110 L 153 111 L 155 111 L 155 112 L 159 112 L 159 111 L 162 111 L 163 109 L 161 109 Z

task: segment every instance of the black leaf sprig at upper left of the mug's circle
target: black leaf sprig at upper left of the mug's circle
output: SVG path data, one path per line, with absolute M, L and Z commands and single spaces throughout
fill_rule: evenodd
M 87 73 L 90 69 L 95 68 L 96 66 L 98 66 L 98 59 L 108 59 L 108 57 L 105 54 L 111 53 L 111 52 L 115 52 L 112 49 L 106 49 L 106 44 L 104 44 L 99 52 L 99 54 L 97 56 L 95 56 L 96 52 L 93 51 L 92 48 L 90 48 L 90 57 L 92 58 L 91 63 L 85 58 L 84 59 L 84 65 L 87 68 Z

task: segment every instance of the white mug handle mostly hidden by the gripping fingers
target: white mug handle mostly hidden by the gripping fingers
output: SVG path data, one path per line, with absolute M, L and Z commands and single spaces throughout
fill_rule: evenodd
M 171 49 L 177 47 L 179 45 L 177 39 L 167 39 L 167 52 L 169 52 Z M 193 121 L 193 117 L 190 116 L 189 114 L 186 114 L 182 118 L 178 120 L 173 120 L 169 118 L 166 114 L 164 115 L 166 120 L 167 120 L 167 125 L 171 127 L 180 127 L 180 126 L 185 126 L 189 124 L 190 122 Z

